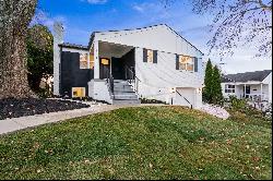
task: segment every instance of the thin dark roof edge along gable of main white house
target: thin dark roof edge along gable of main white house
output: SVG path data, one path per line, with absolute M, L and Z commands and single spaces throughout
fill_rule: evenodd
M 180 38 L 182 38 L 183 40 L 186 40 L 188 44 L 190 44 L 194 49 L 197 49 L 198 51 L 200 51 L 202 55 L 204 55 L 201 50 L 199 50 L 195 46 L 193 46 L 191 43 L 189 43 L 187 39 L 185 39 L 180 34 L 178 34 L 176 31 L 174 31 L 171 27 L 169 27 L 167 24 L 158 24 L 158 25 L 152 25 L 152 26 L 145 26 L 145 27 L 141 27 L 141 28 L 132 28 L 132 29 L 120 29 L 120 31 L 107 31 L 107 32 L 93 32 L 90 38 L 90 44 L 88 44 L 88 48 L 91 48 L 92 43 L 94 40 L 95 34 L 96 33 L 109 33 L 109 32 L 122 32 L 122 31 L 138 31 L 138 29 L 145 29 L 145 28 L 150 28 L 150 27 L 156 27 L 156 26 L 166 26 L 168 27 L 173 33 L 175 33 L 177 36 L 179 36 Z

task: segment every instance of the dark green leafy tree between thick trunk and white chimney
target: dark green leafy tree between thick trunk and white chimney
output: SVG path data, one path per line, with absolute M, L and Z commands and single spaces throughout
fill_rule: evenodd
M 54 74 L 54 36 L 44 25 L 35 25 L 28 29 L 27 69 L 31 88 L 38 93 L 41 79 Z

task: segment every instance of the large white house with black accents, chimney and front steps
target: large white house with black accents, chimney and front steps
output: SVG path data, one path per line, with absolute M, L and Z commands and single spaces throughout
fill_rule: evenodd
M 203 53 L 169 26 L 94 32 L 88 46 L 63 43 L 55 25 L 54 93 L 109 104 L 140 98 L 198 108 Z

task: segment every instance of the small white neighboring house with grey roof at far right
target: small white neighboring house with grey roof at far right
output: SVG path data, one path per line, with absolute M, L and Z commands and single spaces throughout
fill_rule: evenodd
M 223 75 L 222 89 L 226 98 L 272 102 L 272 70 Z

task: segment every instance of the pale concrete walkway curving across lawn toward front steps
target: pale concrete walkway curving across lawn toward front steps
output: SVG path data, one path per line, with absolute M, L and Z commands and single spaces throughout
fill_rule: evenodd
M 135 106 L 114 106 L 114 105 L 92 105 L 90 108 L 50 112 L 29 117 L 12 118 L 0 120 L 0 135 L 41 124 L 64 121 L 72 118 L 90 116 L 93 113 L 106 112 L 124 107 L 163 106 L 163 105 L 135 105 Z

